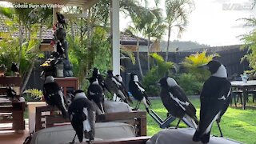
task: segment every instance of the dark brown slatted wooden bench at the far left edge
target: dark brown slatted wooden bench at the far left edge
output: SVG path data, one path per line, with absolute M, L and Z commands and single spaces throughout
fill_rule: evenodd
M 7 98 L 7 86 L 13 86 L 17 94 L 20 93 L 22 79 L 20 77 L 0 77 L 0 123 L 12 123 L 12 127 L 1 130 L 25 130 L 25 100 L 24 98 Z M 15 89 L 16 88 L 16 89 Z

